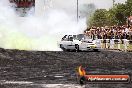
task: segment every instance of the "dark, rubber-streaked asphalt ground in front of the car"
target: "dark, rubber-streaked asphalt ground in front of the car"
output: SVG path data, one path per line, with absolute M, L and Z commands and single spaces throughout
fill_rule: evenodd
M 132 83 L 80 86 L 76 69 L 87 74 L 132 75 L 132 53 L 20 51 L 0 49 L 0 88 L 132 88 Z

